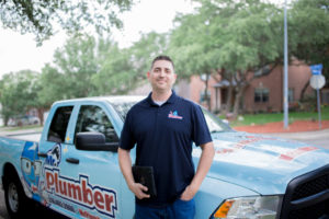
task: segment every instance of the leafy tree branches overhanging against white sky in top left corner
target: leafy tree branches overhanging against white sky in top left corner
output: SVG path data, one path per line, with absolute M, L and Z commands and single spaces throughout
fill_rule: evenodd
M 75 33 L 93 26 L 102 33 L 121 27 L 117 13 L 131 5 L 131 0 L 0 0 L 0 19 L 5 27 L 33 33 L 42 43 L 60 28 Z

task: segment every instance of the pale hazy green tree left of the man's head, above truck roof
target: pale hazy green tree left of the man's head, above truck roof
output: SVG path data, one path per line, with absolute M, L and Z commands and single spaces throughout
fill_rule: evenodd
M 166 49 L 167 35 L 148 33 L 129 48 L 101 41 L 100 70 L 92 77 L 99 94 L 123 94 L 136 88 L 146 78 L 150 60 Z

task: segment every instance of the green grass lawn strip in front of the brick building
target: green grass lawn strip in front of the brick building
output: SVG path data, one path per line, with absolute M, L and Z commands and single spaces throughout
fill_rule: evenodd
M 283 122 L 283 113 L 246 114 L 239 115 L 242 119 L 230 122 L 230 126 L 262 125 L 273 122 Z M 294 120 L 318 120 L 317 112 L 290 112 L 288 123 Z M 329 106 L 321 107 L 321 120 L 329 120 Z

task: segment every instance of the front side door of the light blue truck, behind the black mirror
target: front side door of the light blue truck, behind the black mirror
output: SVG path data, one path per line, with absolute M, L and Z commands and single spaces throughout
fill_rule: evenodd
M 72 180 L 81 184 L 82 199 L 77 205 L 79 218 L 126 218 L 122 209 L 122 174 L 117 152 L 77 150 L 75 139 L 78 132 L 101 132 L 106 143 L 118 146 L 118 136 L 106 114 L 106 107 L 98 104 L 81 105 L 75 124 L 73 147 L 66 152 L 66 165 L 75 170 Z M 77 200 L 72 200 L 77 201 Z M 134 199 L 131 200 L 134 203 Z M 133 209 L 131 209 L 133 214 Z M 133 218 L 129 217 L 129 218 Z

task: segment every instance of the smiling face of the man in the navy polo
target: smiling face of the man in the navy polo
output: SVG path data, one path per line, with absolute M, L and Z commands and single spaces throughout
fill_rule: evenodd
M 171 90 L 177 74 L 170 61 L 157 60 L 152 69 L 147 72 L 147 78 L 155 91 L 163 92 Z

